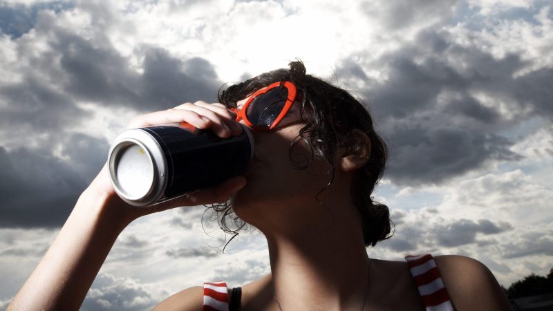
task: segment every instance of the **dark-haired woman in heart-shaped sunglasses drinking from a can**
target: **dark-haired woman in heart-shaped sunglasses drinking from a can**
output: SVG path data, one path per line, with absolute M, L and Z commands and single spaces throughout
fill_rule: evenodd
M 271 96 L 281 96 L 276 109 Z M 240 226 L 243 220 L 266 236 L 272 273 L 241 292 L 221 283 L 189 288 L 157 310 L 224 310 L 227 303 L 240 310 L 510 309 L 491 272 L 471 258 L 424 256 L 409 258 L 407 265 L 367 256 L 366 247 L 391 231 L 388 208 L 371 198 L 386 146 L 371 116 L 346 91 L 292 62 L 288 70 L 221 91 L 218 100 L 223 104 L 187 103 L 142 115 L 129 127 L 184 121 L 225 138 L 241 133 L 238 122 L 246 124 L 256 145 L 245 176 L 138 209 L 115 195 L 104 167 L 8 310 L 79 308 L 131 221 L 172 207 L 221 202 L 215 208 L 223 224 L 234 220 Z M 283 109 L 287 101 L 289 110 Z

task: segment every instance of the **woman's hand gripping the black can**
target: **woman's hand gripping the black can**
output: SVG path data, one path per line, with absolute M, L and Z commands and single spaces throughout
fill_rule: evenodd
M 230 135 L 238 135 L 243 131 L 242 126 L 234 121 L 235 119 L 236 115 L 232 111 L 229 111 L 223 104 L 207 104 L 206 102 L 200 101 L 194 104 L 181 104 L 180 106 L 165 111 L 140 115 L 135 117 L 127 128 L 132 129 L 160 124 L 180 124 L 180 122 L 186 122 L 198 129 L 211 129 L 219 137 L 227 138 Z M 222 182 L 216 187 L 196 191 L 193 194 L 180 196 L 173 200 L 151 205 L 149 207 L 133 207 L 121 200 L 117 194 L 115 194 L 115 190 L 109 180 L 107 164 L 105 164 L 102 171 L 100 171 L 86 191 L 94 194 L 90 197 L 91 199 L 102 194 L 109 196 L 109 204 L 117 205 L 116 208 L 120 209 L 120 211 L 125 214 L 124 218 L 127 218 L 130 223 L 140 216 L 174 207 L 225 202 L 234 192 L 244 187 L 245 182 L 245 178 L 236 176 Z

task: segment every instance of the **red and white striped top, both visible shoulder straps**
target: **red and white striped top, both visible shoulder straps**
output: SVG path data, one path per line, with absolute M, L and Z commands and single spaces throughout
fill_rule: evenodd
M 405 261 L 417 284 L 424 308 L 427 311 L 453 311 L 449 294 L 432 255 L 410 255 L 405 257 Z M 203 283 L 203 310 L 229 311 L 227 283 Z

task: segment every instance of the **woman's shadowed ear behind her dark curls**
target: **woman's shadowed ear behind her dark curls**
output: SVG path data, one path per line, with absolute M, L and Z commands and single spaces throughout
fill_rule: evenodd
M 338 159 L 341 171 L 355 171 L 364 167 L 371 155 L 371 140 L 359 129 L 353 129 L 341 146 Z

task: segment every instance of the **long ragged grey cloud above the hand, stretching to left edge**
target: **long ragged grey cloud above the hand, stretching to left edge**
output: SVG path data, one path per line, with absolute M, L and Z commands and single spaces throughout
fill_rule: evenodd
M 222 84 L 212 64 L 201 57 L 180 59 L 165 48 L 145 44 L 135 48 L 132 55 L 122 55 L 109 37 L 101 32 L 109 25 L 100 23 L 95 29 L 95 37 L 90 39 L 60 23 L 55 15 L 42 12 L 35 36 L 46 47 L 41 48 L 39 53 L 31 53 L 35 46 L 25 45 L 24 41 L 19 44 L 24 55 L 35 54 L 32 58 L 21 59 L 24 65 L 31 65 L 28 62 L 32 61 L 33 67 L 41 68 L 41 75 L 57 77 L 57 81 L 37 81 L 38 77 L 30 70 L 32 68 L 21 65 L 26 69 L 24 81 L 12 84 L 6 90 L 10 93 L 4 99 L 6 102 L 19 102 L 33 109 L 37 103 L 31 100 L 45 97 L 41 93 L 35 95 L 41 90 L 35 91 L 37 86 L 48 83 L 57 86 L 59 93 L 73 101 L 105 106 L 124 105 L 137 111 L 152 111 L 167 109 L 185 101 L 214 100 L 216 90 Z M 134 58 L 142 59 L 138 64 L 139 70 L 131 64 Z M 52 88 L 42 88 L 46 87 Z M 32 97 L 22 98 L 27 94 Z M 73 106 L 69 100 L 60 101 L 47 96 L 45 98 L 51 100 L 42 103 L 43 106 L 49 107 L 57 102 L 64 103 L 64 108 Z M 53 111 L 52 114 L 59 112 Z

